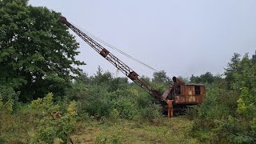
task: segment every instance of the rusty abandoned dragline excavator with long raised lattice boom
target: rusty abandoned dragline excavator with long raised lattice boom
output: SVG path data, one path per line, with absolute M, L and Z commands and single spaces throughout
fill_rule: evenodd
M 59 22 L 68 26 L 74 33 L 78 34 L 83 41 L 85 41 L 90 47 L 106 58 L 107 61 L 112 63 L 119 71 L 122 71 L 128 78 L 135 82 L 142 89 L 146 90 L 150 95 L 158 100 L 163 106 L 164 111 L 168 111 L 168 117 L 173 116 L 173 108 L 182 108 L 184 106 L 195 105 L 202 103 L 205 97 L 205 86 L 202 84 L 185 83 L 180 79 L 174 77 L 173 83 L 167 87 L 164 94 L 155 90 L 150 86 L 142 77 L 140 77 L 134 70 L 122 62 L 119 58 L 111 54 L 109 50 L 96 42 L 93 38 L 90 38 L 87 34 L 83 33 L 76 26 L 66 20 L 65 17 L 60 17 Z M 167 108 L 167 109 L 166 109 Z

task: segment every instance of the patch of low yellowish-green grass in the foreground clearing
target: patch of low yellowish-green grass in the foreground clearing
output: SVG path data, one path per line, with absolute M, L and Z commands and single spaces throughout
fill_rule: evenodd
M 75 143 L 198 143 L 184 117 L 160 118 L 158 123 L 131 120 L 78 122 Z

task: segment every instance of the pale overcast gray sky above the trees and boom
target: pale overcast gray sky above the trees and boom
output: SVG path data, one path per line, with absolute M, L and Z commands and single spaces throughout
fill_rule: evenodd
M 170 77 L 222 74 L 234 52 L 256 50 L 255 0 L 30 0 L 30 4 L 62 13 L 76 26 Z M 101 66 L 116 74 L 114 66 L 77 40 L 78 59 L 87 64 L 82 70 L 92 75 Z M 154 71 L 110 52 L 138 74 L 152 77 Z

